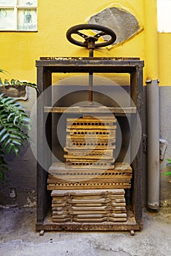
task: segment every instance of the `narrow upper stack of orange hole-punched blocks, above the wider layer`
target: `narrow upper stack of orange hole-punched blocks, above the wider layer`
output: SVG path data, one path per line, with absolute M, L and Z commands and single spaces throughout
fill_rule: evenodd
M 114 169 L 116 118 L 83 116 L 66 121 L 66 168 Z

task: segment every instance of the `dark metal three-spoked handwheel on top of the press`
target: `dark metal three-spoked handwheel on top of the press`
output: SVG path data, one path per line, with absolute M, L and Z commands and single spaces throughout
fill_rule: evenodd
M 94 31 L 99 31 L 99 33 L 95 34 L 94 36 L 88 36 L 88 35 L 80 32 L 80 30 L 84 30 L 84 29 L 86 29 L 86 30 L 91 29 Z M 72 37 L 72 34 L 77 34 L 80 37 L 83 37 L 83 39 L 85 39 L 85 41 L 84 42 L 77 41 L 76 39 L 74 39 Z M 98 41 L 99 37 L 102 37 L 104 35 L 109 35 L 111 38 L 109 40 L 107 40 L 106 42 L 98 43 L 97 41 Z M 88 49 L 94 49 L 94 48 L 100 48 L 100 47 L 104 47 L 104 46 L 113 44 L 113 42 L 115 42 L 116 35 L 112 29 L 108 29 L 105 26 L 100 26 L 100 25 L 96 25 L 96 24 L 80 24 L 80 25 L 72 26 L 68 31 L 66 31 L 66 38 L 69 40 L 69 42 L 72 42 L 72 44 L 74 44 L 74 45 L 86 47 Z

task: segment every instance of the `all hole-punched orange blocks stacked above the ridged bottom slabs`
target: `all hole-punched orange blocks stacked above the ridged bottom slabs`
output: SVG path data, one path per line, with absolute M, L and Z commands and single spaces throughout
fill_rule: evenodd
M 116 118 L 66 119 L 64 163 L 49 169 L 47 189 L 129 189 L 132 168 L 114 161 Z

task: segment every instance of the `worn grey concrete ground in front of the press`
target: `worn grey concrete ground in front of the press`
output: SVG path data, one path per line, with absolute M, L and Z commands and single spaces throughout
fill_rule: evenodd
M 3 256 L 170 256 L 171 208 L 143 214 L 143 230 L 129 232 L 35 232 L 36 210 L 0 211 Z

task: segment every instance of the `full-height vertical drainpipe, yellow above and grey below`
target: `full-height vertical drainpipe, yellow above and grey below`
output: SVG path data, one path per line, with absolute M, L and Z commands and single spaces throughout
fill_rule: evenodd
M 148 131 L 148 208 L 159 208 L 159 79 L 156 0 L 145 1 L 145 67 Z

